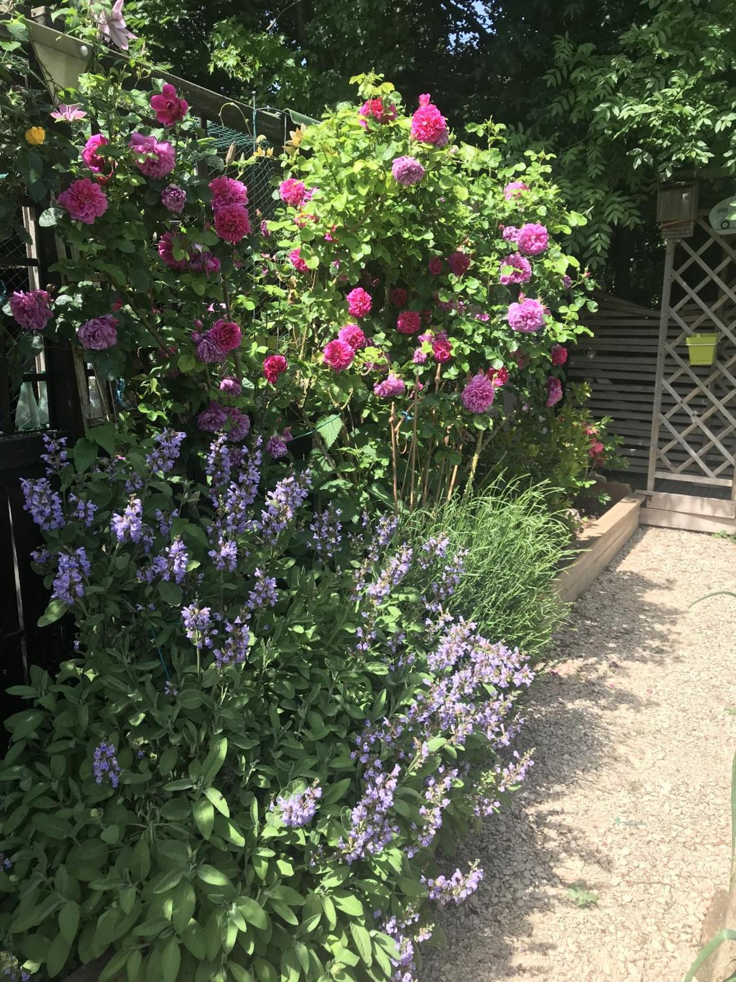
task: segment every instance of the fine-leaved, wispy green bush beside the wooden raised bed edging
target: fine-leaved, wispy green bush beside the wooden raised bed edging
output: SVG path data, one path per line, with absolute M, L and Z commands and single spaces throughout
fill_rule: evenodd
M 483 494 L 454 499 L 429 518 L 429 534 L 447 529 L 452 549 L 466 550 L 447 609 L 532 660 L 549 647 L 565 612 L 553 579 L 570 532 L 553 498 L 551 485 L 520 488 L 503 476 Z

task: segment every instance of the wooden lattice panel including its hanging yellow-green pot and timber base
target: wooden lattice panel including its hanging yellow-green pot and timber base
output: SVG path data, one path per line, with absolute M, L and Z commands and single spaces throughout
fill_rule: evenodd
M 642 513 L 651 524 L 736 530 L 734 246 L 703 217 L 667 239 Z

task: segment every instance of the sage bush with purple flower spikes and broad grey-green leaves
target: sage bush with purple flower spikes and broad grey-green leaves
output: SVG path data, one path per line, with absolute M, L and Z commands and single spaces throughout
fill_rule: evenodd
M 532 674 L 447 612 L 447 537 L 306 525 L 309 472 L 268 490 L 257 443 L 219 438 L 194 483 L 182 436 L 97 464 L 50 445 L 25 482 L 45 617 L 72 610 L 79 653 L 14 689 L 6 966 L 54 978 L 107 951 L 103 980 L 411 977 L 427 900 L 482 877 L 438 875 L 435 849 L 529 765 L 506 748 Z

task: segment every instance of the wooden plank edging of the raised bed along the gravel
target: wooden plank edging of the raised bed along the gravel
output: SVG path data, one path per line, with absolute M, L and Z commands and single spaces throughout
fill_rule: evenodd
M 626 495 L 585 528 L 575 542 L 576 550 L 583 551 L 554 579 L 560 599 L 565 603 L 577 600 L 605 570 L 639 527 L 641 507 L 639 496 Z

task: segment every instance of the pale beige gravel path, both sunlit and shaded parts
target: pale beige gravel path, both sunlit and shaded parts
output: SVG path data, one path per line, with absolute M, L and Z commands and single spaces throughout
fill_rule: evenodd
M 647 528 L 578 600 L 519 736 L 535 766 L 447 859 L 480 855 L 485 880 L 439 913 L 421 982 L 684 977 L 730 859 L 736 600 L 688 609 L 717 589 L 736 591 L 733 542 Z

